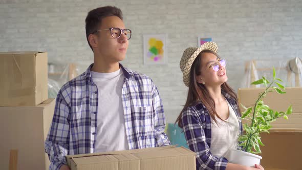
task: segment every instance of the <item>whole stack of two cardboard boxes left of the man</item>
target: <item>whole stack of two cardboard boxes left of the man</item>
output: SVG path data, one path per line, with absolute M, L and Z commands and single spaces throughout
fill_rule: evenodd
M 45 52 L 0 53 L 1 169 L 48 169 L 44 141 L 55 100 L 47 68 Z

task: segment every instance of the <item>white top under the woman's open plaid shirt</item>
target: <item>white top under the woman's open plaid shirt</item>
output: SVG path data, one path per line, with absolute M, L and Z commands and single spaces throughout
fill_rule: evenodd
M 211 147 L 213 156 L 224 157 L 229 149 L 236 149 L 238 146 L 239 122 L 238 118 L 228 103 L 229 117 L 225 120 L 217 118 L 218 124 L 211 120 Z

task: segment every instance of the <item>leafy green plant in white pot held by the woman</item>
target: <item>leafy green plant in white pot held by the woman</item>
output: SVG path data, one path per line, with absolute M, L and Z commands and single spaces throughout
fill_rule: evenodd
M 261 156 L 255 155 L 260 154 L 260 145 L 264 146 L 261 141 L 260 133 L 269 133 L 272 128 L 271 122 L 275 121 L 277 118 L 283 117 L 288 119 L 288 115 L 292 113 L 291 105 L 285 112 L 277 112 L 270 109 L 263 101 L 266 94 L 269 92 L 277 92 L 279 94 L 284 94 L 285 88 L 281 84 L 282 80 L 276 78 L 276 72 L 273 68 L 273 80 L 270 82 L 265 77 L 256 80 L 251 84 L 263 84 L 265 90 L 261 92 L 255 101 L 253 107 L 244 108 L 242 113 L 242 119 L 248 120 L 247 123 L 243 124 L 244 134 L 239 136 L 239 145 L 243 147 L 243 151 L 230 150 L 228 153 L 228 160 L 231 163 L 242 164 L 246 166 L 254 166 L 254 164 L 260 164 Z

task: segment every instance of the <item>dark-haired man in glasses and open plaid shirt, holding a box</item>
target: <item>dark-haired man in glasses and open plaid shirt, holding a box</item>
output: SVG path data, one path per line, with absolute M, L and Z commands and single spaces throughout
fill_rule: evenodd
M 94 63 L 57 95 L 45 141 L 50 169 L 68 169 L 66 155 L 170 144 L 155 84 L 119 63 L 132 34 L 124 26 L 121 10 L 97 8 L 85 22 Z

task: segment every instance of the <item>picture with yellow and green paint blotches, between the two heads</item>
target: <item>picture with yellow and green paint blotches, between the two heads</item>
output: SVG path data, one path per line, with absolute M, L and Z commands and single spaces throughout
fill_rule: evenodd
M 144 65 L 167 62 L 167 34 L 144 34 Z

